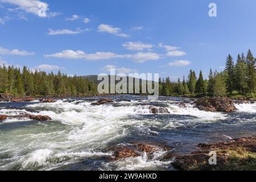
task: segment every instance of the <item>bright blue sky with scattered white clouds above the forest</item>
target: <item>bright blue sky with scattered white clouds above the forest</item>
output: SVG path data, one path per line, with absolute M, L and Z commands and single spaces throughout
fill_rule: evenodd
M 46 3 L 47 17 L 38 16 Z M 217 17 L 208 15 L 209 3 Z M 256 54 L 255 0 L 0 0 L 0 64 L 68 75 L 187 76 Z

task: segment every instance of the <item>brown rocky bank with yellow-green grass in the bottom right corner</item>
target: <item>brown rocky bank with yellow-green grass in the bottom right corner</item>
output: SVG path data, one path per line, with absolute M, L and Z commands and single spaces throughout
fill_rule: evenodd
M 256 137 L 233 139 L 230 142 L 199 144 L 191 155 L 176 156 L 172 166 L 183 171 L 256 170 Z M 216 151 L 217 165 L 209 164 L 209 152 Z

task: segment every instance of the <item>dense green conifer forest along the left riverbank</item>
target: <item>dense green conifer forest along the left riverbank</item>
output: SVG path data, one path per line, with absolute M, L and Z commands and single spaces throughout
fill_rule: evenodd
M 13 96 L 86 96 L 97 93 L 97 86 L 81 76 L 67 76 L 60 71 L 31 71 L 27 67 L 0 65 L 0 93 Z

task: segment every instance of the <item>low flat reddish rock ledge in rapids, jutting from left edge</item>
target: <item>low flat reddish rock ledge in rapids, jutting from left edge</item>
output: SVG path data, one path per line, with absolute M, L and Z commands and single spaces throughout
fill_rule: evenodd
M 31 115 L 31 114 L 21 114 L 21 115 L 0 115 L 0 122 L 5 121 L 6 119 L 32 119 L 36 121 L 51 121 L 52 118 L 47 115 Z

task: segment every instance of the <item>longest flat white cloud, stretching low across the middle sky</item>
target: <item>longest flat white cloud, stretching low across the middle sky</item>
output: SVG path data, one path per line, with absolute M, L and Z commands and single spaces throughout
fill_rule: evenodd
M 158 60 L 160 55 L 154 52 L 138 52 L 134 55 L 118 55 L 113 52 L 96 52 L 96 53 L 85 53 L 84 51 L 72 51 L 65 50 L 54 53 L 52 55 L 44 55 L 44 57 L 55 57 L 62 59 L 85 59 L 85 60 L 107 60 L 107 59 L 132 59 L 138 63 L 143 63 L 147 60 Z

